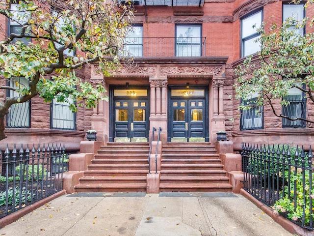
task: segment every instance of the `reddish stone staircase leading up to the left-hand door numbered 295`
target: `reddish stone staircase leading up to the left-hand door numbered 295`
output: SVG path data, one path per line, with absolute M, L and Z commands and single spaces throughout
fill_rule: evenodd
M 148 143 L 107 143 L 75 186 L 76 192 L 145 192 Z

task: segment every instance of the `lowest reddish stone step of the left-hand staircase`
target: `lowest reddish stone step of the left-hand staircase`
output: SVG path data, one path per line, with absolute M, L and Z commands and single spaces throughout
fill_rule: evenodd
M 77 192 L 145 192 L 146 183 L 79 183 Z

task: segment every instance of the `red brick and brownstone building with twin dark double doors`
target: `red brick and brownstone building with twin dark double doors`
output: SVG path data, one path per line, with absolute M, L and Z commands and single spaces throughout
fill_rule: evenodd
M 313 142 L 312 126 L 276 118 L 269 107 L 260 108 L 260 115 L 240 114 L 233 87 L 233 69 L 259 51 L 254 42 L 259 34 L 252 26 L 280 25 L 291 15 L 303 19 L 313 15 L 312 6 L 304 10 L 304 3 L 284 0 L 134 0 L 134 5 L 134 26 L 125 46 L 133 65 L 122 64 L 110 77 L 96 74 L 97 65 L 78 71 L 84 80 L 105 85 L 108 101 L 93 110 L 80 108 L 77 114 L 68 104 L 47 104 L 38 97 L 16 105 L 8 115 L 2 147 L 57 141 L 76 151 L 88 129 L 98 132 L 103 145 L 145 146 L 154 127 L 162 129 L 163 146 L 178 143 L 179 149 L 186 143 L 211 147 L 217 131 L 227 132 L 234 151 L 248 141 Z M 15 30 L 6 19 L 0 24 L 6 33 Z M 291 116 L 313 115 L 302 99 L 291 106 Z M 276 109 L 285 112 L 280 105 Z

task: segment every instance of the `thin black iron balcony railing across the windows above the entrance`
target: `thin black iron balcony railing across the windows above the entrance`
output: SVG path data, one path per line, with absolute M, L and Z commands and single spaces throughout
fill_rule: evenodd
M 134 58 L 205 57 L 206 37 L 127 37 L 122 54 Z

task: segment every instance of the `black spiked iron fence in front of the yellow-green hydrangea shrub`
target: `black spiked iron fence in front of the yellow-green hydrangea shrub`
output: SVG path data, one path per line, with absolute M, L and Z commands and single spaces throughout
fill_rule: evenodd
M 314 181 L 311 147 L 243 144 L 244 189 L 295 224 L 313 230 Z

